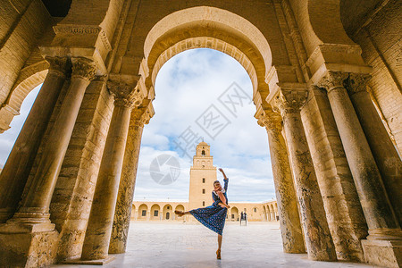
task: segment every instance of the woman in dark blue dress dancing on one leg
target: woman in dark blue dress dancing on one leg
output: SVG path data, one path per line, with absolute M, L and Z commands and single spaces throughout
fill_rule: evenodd
M 218 233 L 218 250 L 216 250 L 216 258 L 221 259 L 221 246 L 222 246 L 222 230 L 225 225 L 226 213 L 228 212 L 228 196 L 226 192 L 228 191 L 228 181 L 225 172 L 219 169 L 223 175 L 224 186 L 222 188 L 219 180 L 214 181 L 214 190 L 212 192 L 214 203 L 206 207 L 200 207 L 190 211 L 177 211 L 174 213 L 183 216 L 186 214 L 192 214 L 198 222 L 204 224 L 207 228 L 214 230 Z

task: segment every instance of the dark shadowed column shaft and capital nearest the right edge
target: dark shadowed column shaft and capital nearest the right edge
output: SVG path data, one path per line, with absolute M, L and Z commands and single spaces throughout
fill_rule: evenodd
M 367 74 L 350 73 L 346 80 L 346 88 L 400 226 L 402 224 L 402 195 L 400 194 L 402 162 L 366 90 L 366 82 L 370 78 L 371 76 Z

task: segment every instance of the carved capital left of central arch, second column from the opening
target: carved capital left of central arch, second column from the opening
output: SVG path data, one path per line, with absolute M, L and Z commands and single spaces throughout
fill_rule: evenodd
M 122 81 L 107 81 L 107 88 L 114 96 L 115 106 L 125 106 L 133 108 L 141 104 L 144 96 L 142 96 L 137 83 L 128 84 Z

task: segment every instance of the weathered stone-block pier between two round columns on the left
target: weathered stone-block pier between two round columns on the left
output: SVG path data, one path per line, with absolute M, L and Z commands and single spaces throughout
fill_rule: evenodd
M 88 86 L 50 205 L 60 232 L 58 259 L 80 257 L 97 172 L 113 111 L 105 82 Z

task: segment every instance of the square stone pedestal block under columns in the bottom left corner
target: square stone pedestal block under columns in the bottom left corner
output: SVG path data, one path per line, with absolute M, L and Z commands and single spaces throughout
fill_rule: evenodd
M 41 267 L 55 264 L 58 232 L 54 224 L 0 224 L 0 266 Z

